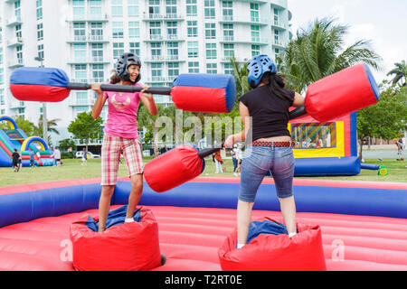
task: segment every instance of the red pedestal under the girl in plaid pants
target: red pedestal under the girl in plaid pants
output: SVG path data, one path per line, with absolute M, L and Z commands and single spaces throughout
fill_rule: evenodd
M 144 271 L 161 266 L 158 225 L 151 210 L 139 207 L 139 221 L 98 233 L 89 218 L 71 224 L 73 266 L 80 271 Z

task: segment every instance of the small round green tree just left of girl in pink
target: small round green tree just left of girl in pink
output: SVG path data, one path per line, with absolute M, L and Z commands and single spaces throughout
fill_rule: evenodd
M 91 139 L 101 139 L 102 132 L 101 126 L 103 119 L 101 117 L 93 118 L 92 112 L 82 112 L 68 126 L 68 131 L 74 135 L 74 138 L 80 139 L 86 145 L 88 151 L 88 144 Z

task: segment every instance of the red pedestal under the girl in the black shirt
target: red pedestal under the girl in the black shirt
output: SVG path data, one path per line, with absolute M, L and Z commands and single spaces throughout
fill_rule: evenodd
M 275 220 L 263 218 L 262 220 Z M 277 223 L 277 222 L 276 222 Z M 260 234 L 236 249 L 236 229 L 218 250 L 223 271 L 326 271 L 321 228 L 298 224 L 298 234 Z

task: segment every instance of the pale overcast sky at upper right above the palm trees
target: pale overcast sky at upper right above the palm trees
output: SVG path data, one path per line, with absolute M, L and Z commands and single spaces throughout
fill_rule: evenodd
M 350 26 L 347 45 L 371 40 L 383 58 L 383 71 L 373 71 L 380 83 L 395 62 L 407 61 L 407 0 L 288 0 L 292 12 L 292 32 L 307 27 L 316 18 L 332 16 Z

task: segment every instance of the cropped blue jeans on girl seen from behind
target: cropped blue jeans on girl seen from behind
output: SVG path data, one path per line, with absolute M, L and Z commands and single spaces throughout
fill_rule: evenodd
M 254 202 L 260 183 L 269 170 L 279 198 L 292 196 L 295 160 L 291 147 L 249 146 L 241 162 L 239 200 Z

